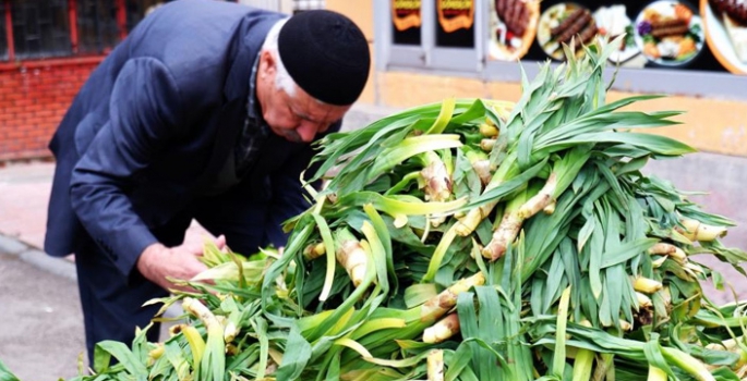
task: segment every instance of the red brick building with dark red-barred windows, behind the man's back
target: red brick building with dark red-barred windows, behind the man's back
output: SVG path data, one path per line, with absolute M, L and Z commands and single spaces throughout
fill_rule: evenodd
M 0 1 L 0 161 L 48 158 L 79 88 L 155 0 Z

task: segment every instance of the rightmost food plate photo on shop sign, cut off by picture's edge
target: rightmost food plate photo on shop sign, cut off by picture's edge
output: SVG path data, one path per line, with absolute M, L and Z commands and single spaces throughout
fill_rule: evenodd
M 706 41 L 732 73 L 747 74 L 747 1 L 701 0 Z

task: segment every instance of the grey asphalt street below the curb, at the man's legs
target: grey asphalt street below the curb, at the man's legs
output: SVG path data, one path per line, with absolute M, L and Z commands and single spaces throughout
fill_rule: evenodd
M 0 253 L 0 360 L 22 381 L 77 374 L 85 343 L 72 279 Z

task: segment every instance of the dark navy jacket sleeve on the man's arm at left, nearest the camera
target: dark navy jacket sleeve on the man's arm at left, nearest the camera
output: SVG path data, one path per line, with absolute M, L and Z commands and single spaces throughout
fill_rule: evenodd
M 73 169 L 72 207 L 125 276 L 140 254 L 157 242 L 135 213 L 128 193 L 137 172 L 176 137 L 179 110 L 174 79 L 160 61 L 128 61 L 112 88 L 108 121 Z

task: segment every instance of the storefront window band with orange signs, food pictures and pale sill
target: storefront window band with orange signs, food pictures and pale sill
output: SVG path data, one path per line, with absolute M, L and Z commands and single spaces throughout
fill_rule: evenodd
M 531 76 L 538 67 L 532 62 L 563 62 L 564 44 L 573 42 L 581 57 L 581 42 L 619 38 L 609 62 L 610 75 L 617 67 L 616 89 L 744 99 L 747 8 L 733 4 L 708 0 L 376 1 L 376 39 L 383 41 L 376 45 L 377 67 L 448 70 L 517 82 L 521 77 L 518 62 Z M 417 28 L 409 26 L 414 20 L 420 22 Z

